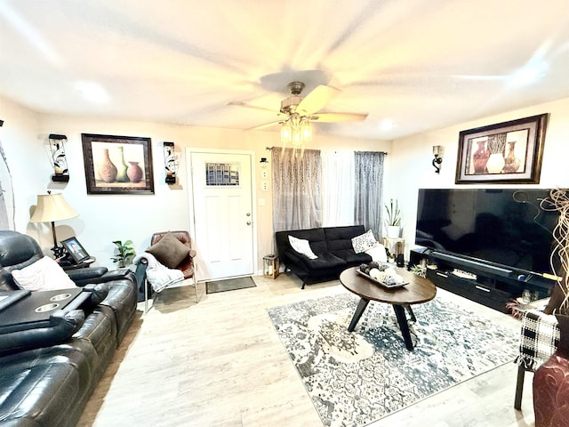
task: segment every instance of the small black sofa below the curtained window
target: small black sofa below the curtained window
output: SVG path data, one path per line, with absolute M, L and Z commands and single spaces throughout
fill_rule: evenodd
M 279 262 L 302 280 L 302 289 L 311 283 L 339 278 L 343 270 L 372 261 L 368 254 L 356 254 L 352 246 L 352 238 L 364 233 L 363 225 L 277 231 L 275 240 Z M 296 252 L 289 236 L 308 240 L 317 258 L 311 260 Z

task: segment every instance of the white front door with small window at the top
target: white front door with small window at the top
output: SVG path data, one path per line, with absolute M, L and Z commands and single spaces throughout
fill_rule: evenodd
M 252 154 L 188 149 L 187 158 L 197 279 L 252 275 Z

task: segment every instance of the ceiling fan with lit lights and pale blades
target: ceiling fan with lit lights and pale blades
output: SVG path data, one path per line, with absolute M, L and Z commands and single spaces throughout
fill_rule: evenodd
M 288 131 L 293 133 L 295 128 L 301 130 L 302 126 L 304 126 L 304 133 L 307 133 L 306 129 L 309 127 L 310 122 L 357 122 L 365 120 L 365 117 L 367 117 L 367 114 L 360 113 L 319 112 L 325 107 L 328 101 L 331 101 L 334 96 L 341 92 L 333 86 L 318 85 L 305 97 L 301 96 L 302 90 L 305 87 L 304 83 L 291 82 L 287 87 L 291 96 L 281 101 L 281 108 L 279 112 L 276 113 L 278 116 L 283 116 L 283 118 L 263 125 L 254 126 L 252 129 L 259 130 L 274 125 L 283 125 L 281 128 L 281 139 L 283 139 L 283 133 L 287 132 L 286 128 L 289 128 Z M 232 104 L 252 109 L 266 110 L 242 102 L 234 102 Z M 291 141 L 294 142 L 294 135 L 292 134 L 291 137 Z

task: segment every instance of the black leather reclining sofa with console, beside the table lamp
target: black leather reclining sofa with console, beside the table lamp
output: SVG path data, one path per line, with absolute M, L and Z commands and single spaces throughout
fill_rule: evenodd
M 0 291 L 19 290 L 12 270 L 42 257 L 33 238 L 0 231 Z M 79 289 L 85 296 L 81 306 L 52 315 L 58 326 L 66 326 L 59 333 L 68 330 L 67 336 L 55 334 L 57 327 L 10 331 L 0 325 L 0 426 L 73 426 L 82 415 L 132 323 L 137 285 L 132 273 L 125 273 Z

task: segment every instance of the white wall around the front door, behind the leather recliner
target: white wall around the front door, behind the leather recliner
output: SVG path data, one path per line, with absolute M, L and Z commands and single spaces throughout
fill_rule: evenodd
M 161 230 L 189 230 L 188 184 L 185 153 L 187 147 L 212 149 L 253 150 L 258 166 L 260 157 L 271 158 L 267 147 L 278 147 L 278 133 L 244 132 L 220 128 L 201 128 L 182 125 L 164 125 L 128 120 L 110 120 L 100 117 L 71 117 L 40 114 L 0 97 L 0 141 L 4 145 L 16 194 L 15 230 L 24 232 L 40 243 L 45 254 L 51 254 L 51 228 L 48 224 L 29 222 L 36 205 L 36 195 L 47 189 L 63 193 L 69 205 L 79 216 L 57 222 L 59 239 L 76 236 L 85 248 L 97 258 L 99 265 L 112 268 L 113 240 L 132 239 L 137 253 L 149 245 L 150 236 Z M 70 179 L 68 183 L 53 183 L 51 160 L 45 151 L 50 133 L 67 135 L 66 152 Z M 152 140 L 154 168 L 154 195 L 88 195 L 84 176 L 81 133 L 100 133 L 121 136 L 149 137 Z M 181 154 L 178 184 L 164 182 L 162 144 L 173 141 Z M 390 142 L 333 138 L 315 135 L 312 149 L 354 149 L 389 151 Z M 389 163 L 388 157 L 388 163 Z M 389 169 L 389 165 L 386 165 Z M 257 194 L 258 262 L 271 254 L 272 193 L 260 189 L 259 169 L 255 173 Z M 265 205 L 259 205 L 259 199 Z M 199 254 L 198 254 L 199 256 Z

